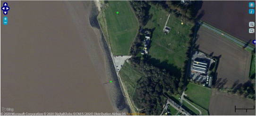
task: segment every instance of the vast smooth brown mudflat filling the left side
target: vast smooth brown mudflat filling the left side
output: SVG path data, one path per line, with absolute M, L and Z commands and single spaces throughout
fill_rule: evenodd
M 1 24 L 1 107 L 15 113 L 115 112 L 103 84 L 110 78 L 101 35 L 89 23 L 91 0 L 3 2 L 11 10 L 9 24 Z M 79 14 L 86 17 L 74 19 Z

